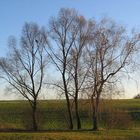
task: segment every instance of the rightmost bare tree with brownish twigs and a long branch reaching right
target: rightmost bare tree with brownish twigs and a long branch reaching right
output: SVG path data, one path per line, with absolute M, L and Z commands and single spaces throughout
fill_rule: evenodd
M 128 38 L 124 28 L 104 18 L 96 23 L 92 42 L 87 49 L 90 70 L 87 87 L 90 94 L 93 112 L 93 129 L 98 129 L 98 108 L 100 98 L 107 84 L 111 84 L 117 76 L 131 63 L 131 58 L 139 43 L 139 35 Z

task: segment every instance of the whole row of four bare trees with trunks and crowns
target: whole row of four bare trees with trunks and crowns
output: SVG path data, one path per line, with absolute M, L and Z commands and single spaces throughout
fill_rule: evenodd
M 107 18 L 97 22 L 74 9 L 63 8 L 46 28 L 26 23 L 19 44 L 10 38 L 9 53 L 0 58 L 0 78 L 28 100 L 32 127 L 37 130 L 37 101 L 50 63 L 61 80 L 47 83 L 59 88 L 66 99 L 68 128 L 73 129 L 73 100 L 77 129 L 81 129 L 78 101 L 84 94 L 91 100 L 93 130 L 97 130 L 100 98 L 117 84 L 121 72 L 131 64 L 139 40 L 139 34 L 129 37 L 124 27 Z

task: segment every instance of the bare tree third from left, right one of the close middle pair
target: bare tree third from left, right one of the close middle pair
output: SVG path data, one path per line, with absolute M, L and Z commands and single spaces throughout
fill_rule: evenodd
M 89 39 L 92 37 L 94 22 L 87 21 L 83 16 L 77 16 L 74 23 L 76 37 L 70 51 L 70 63 L 68 64 L 68 74 L 70 77 L 70 96 L 74 99 L 75 116 L 77 120 L 77 129 L 81 128 L 81 121 L 79 116 L 78 98 L 83 91 L 83 85 L 88 73 L 83 59 L 84 49 Z

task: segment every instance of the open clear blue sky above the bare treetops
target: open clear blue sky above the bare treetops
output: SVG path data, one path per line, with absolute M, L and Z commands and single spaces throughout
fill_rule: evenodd
M 46 26 L 60 8 L 74 8 L 87 18 L 107 16 L 117 23 L 140 29 L 140 0 L 0 0 L 0 57 L 10 35 L 19 37 L 25 22 Z

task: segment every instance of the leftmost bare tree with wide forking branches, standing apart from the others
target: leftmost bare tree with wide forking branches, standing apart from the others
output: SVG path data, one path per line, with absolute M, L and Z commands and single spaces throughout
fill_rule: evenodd
M 36 24 L 26 23 L 23 27 L 20 46 L 10 41 L 10 53 L 0 59 L 1 78 L 5 79 L 20 95 L 25 97 L 32 108 L 32 127 L 37 125 L 37 100 L 41 93 L 46 60 L 44 31 Z

